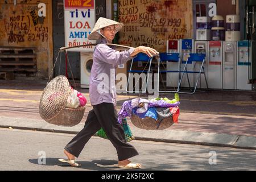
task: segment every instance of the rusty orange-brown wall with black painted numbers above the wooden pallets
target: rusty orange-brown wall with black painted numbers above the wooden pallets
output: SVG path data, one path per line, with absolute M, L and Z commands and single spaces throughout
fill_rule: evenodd
M 38 16 L 40 2 L 46 17 Z M 36 47 L 36 76 L 47 77 L 53 62 L 51 0 L 0 0 L 0 46 Z

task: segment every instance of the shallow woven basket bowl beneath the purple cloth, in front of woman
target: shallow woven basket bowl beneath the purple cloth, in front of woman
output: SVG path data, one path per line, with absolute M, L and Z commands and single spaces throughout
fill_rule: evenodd
M 172 120 L 172 117 L 165 118 L 160 122 L 150 117 L 142 119 L 139 118 L 138 115 L 133 114 L 131 116 L 131 123 L 139 129 L 165 130 L 168 129 L 168 127 L 171 127 L 174 124 L 174 121 Z

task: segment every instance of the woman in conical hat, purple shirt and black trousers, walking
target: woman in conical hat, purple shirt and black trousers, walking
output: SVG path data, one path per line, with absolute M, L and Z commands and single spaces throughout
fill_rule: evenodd
M 139 52 L 146 53 L 149 57 L 158 54 L 158 52 L 155 49 L 143 46 L 119 52 L 115 51 L 114 47 L 107 46 L 106 43 L 112 43 L 115 34 L 122 27 L 122 23 L 99 18 L 88 37 L 90 40 L 100 42 L 94 49 L 93 65 L 90 73 L 89 96 L 93 109 L 89 111 L 84 129 L 64 149 L 64 154 L 67 155 L 68 160 L 62 162 L 68 162 L 71 166 L 80 166 L 75 162 L 75 157 L 79 157 L 88 140 L 102 127 L 117 150 L 118 167 L 141 167 L 141 164 L 130 162 L 129 158 L 138 155 L 138 152 L 131 144 L 126 142 L 123 127 L 118 123 L 118 114 L 115 109 L 115 67 L 131 60 Z M 105 75 L 104 79 L 100 77 L 102 73 Z

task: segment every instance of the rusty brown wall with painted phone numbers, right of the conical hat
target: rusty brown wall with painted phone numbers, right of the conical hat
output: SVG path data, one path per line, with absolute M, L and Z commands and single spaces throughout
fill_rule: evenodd
M 166 40 L 192 38 L 192 0 L 119 0 L 119 43 L 166 52 Z

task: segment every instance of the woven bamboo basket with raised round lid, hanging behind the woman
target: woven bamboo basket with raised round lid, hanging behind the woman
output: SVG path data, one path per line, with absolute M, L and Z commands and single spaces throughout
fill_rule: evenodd
M 53 125 L 75 126 L 79 124 L 84 116 L 85 106 L 77 109 L 66 108 L 69 94 L 68 79 L 62 75 L 53 78 L 40 98 L 40 116 Z

